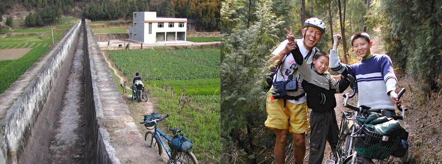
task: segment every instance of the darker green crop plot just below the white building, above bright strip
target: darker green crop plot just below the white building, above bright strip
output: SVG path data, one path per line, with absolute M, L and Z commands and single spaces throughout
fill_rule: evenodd
M 148 81 L 220 77 L 219 49 L 116 50 L 108 54 L 127 79 L 135 72 Z

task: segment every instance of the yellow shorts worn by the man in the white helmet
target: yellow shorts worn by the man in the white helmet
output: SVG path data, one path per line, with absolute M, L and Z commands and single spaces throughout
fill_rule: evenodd
M 310 129 L 309 118 L 307 116 L 309 108 L 307 102 L 293 104 L 284 99 L 272 99 L 272 90 L 267 93 L 266 109 L 267 120 L 264 125 L 271 129 L 289 130 L 290 133 L 304 133 Z

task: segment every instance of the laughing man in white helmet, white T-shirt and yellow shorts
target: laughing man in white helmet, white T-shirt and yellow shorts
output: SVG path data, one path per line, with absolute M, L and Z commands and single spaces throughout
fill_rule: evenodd
M 277 164 L 284 164 L 287 132 L 293 134 L 296 164 L 302 164 L 305 157 L 305 132 L 310 129 L 307 98 L 301 86 L 302 79 L 297 72 L 295 59 L 290 52 L 297 45 L 305 62 L 311 65 L 314 54 L 319 51 L 315 46 L 325 33 L 325 23 L 315 17 L 309 18 L 304 22 L 301 32 L 302 39 L 295 39 L 295 42 L 290 43 L 288 39 L 284 40 L 272 52 L 274 56 L 270 59 L 270 62 L 275 64 L 274 67 L 277 67 L 274 82 L 288 80 L 297 82 L 295 92 L 287 91 L 287 96 L 279 99 L 273 96 L 274 86 L 272 85 L 266 99 L 267 120 L 264 124 L 276 133 L 275 160 Z

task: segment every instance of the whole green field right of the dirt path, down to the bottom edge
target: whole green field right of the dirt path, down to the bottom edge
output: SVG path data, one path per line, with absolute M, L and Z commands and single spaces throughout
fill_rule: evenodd
M 220 163 L 219 49 L 112 50 L 107 54 L 128 81 L 132 81 L 137 71 L 147 81 L 148 92 L 158 99 L 156 110 L 170 115 L 161 123 L 162 130 L 181 128 L 194 141 L 193 152 L 200 163 Z M 168 86 L 167 90 L 164 85 Z M 187 101 L 180 108 L 183 87 Z M 138 115 L 133 117 L 140 119 Z M 145 131 L 141 128 L 143 135 Z

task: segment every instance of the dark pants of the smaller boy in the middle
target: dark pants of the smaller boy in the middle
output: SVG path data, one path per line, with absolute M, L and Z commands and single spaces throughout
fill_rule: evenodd
M 309 164 L 321 164 L 326 142 L 329 141 L 332 151 L 334 151 L 339 140 L 339 129 L 334 110 L 328 112 L 312 111 L 310 127 Z

